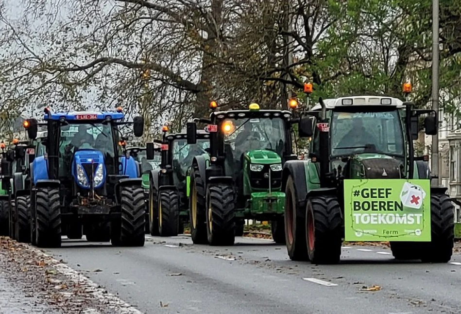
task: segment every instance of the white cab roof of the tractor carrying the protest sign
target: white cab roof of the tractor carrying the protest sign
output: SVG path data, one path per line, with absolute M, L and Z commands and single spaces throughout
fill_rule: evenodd
M 404 108 L 403 102 L 394 97 L 387 96 L 349 96 L 324 99 L 326 109 L 335 109 L 349 106 L 395 106 Z M 321 110 L 322 106 L 317 103 L 311 110 Z

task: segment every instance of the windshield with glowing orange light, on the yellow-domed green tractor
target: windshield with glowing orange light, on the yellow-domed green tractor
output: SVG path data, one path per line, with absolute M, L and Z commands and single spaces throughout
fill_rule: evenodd
M 222 122 L 224 148 L 240 160 L 245 152 L 270 150 L 284 155 L 285 126 L 281 118 L 228 119 Z

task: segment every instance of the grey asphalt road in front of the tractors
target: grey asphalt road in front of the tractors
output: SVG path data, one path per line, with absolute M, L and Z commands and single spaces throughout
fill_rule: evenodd
M 344 246 L 339 265 L 291 262 L 284 245 L 232 247 L 147 236 L 140 248 L 65 240 L 45 250 L 143 313 L 461 313 L 461 255 L 395 262 L 381 246 Z M 373 285 L 377 291 L 363 291 Z

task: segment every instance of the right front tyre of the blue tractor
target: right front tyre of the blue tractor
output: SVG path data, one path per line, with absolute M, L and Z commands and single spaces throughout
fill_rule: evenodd
M 120 188 L 121 230 L 120 244 L 144 246 L 145 203 L 141 187 Z

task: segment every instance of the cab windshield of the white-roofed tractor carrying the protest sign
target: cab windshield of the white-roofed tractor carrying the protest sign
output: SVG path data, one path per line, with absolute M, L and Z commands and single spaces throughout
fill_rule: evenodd
M 333 111 L 330 133 L 332 157 L 363 152 L 404 156 L 402 124 L 397 110 Z

